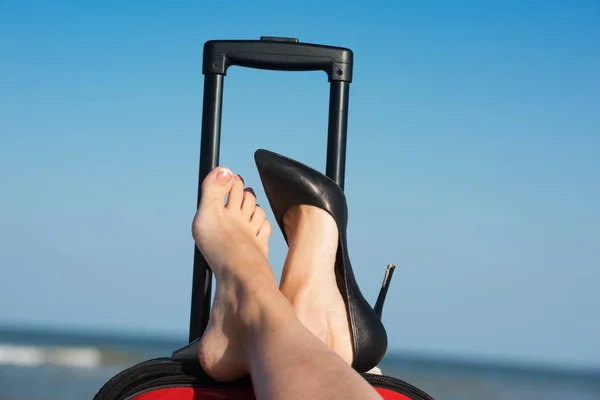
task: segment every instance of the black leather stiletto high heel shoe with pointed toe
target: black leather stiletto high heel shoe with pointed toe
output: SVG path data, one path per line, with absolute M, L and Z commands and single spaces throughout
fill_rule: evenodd
M 254 159 L 271 209 L 286 242 L 283 214 L 292 206 L 315 206 L 327 211 L 335 219 L 339 232 L 335 273 L 348 312 L 354 351 L 352 367 L 358 372 L 369 371 L 377 366 L 387 350 L 387 333 L 381 322 L 381 311 L 393 266 L 388 268 L 373 309 L 360 292 L 350 265 L 346 240 L 348 208 L 342 189 L 326 175 L 277 153 L 257 150 Z

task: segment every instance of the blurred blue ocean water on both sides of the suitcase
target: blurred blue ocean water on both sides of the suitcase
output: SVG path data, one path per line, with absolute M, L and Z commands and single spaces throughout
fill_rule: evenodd
M 181 340 L 0 329 L 0 400 L 91 399 L 119 371 Z M 388 353 L 384 374 L 446 400 L 600 400 L 600 371 L 568 371 Z

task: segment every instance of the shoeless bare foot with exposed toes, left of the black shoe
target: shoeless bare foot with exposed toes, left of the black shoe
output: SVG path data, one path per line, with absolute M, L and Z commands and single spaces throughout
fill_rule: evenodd
M 225 204 L 225 199 L 227 203 Z M 202 183 L 202 200 L 192 235 L 215 275 L 215 300 L 199 360 L 211 377 L 234 380 L 248 372 L 246 326 L 253 318 L 250 304 L 265 286 L 277 289 L 269 267 L 267 242 L 271 224 L 256 206 L 251 190 L 239 176 L 216 168 Z

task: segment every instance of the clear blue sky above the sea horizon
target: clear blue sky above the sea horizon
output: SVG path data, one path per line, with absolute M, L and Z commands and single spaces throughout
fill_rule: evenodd
M 372 301 L 398 266 L 390 349 L 600 366 L 600 4 L 356 4 L 1 1 L 0 324 L 185 337 L 203 43 L 292 36 L 355 52 L 349 247 Z M 327 96 L 228 73 L 259 203 L 257 148 L 324 169 Z

